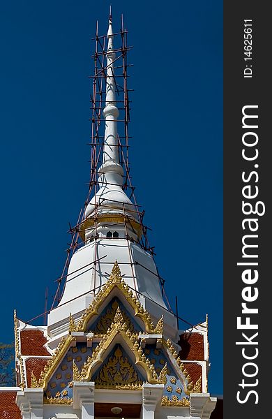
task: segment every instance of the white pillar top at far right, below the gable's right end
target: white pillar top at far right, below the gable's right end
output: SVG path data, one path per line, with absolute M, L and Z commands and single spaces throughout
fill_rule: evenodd
M 191 393 L 190 418 L 209 419 L 216 402 L 217 398 L 210 397 L 210 393 Z

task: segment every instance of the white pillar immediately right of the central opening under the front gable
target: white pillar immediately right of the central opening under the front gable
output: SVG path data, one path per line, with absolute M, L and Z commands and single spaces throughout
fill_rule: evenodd
M 163 384 L 145 384 L 142 388 L 142 418 L 154 419 L 157 404 L 163 397 Z

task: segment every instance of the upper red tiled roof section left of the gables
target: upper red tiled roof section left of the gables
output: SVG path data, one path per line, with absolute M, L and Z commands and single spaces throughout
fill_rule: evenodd
M 22 355 L 51 355 L 44 345 L 47 342 L 42 330 L 21 330 L 21 353 Z

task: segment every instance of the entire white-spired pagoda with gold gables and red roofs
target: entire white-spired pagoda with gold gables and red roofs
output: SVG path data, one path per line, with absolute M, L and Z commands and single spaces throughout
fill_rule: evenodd
M 116 36 L 110 15 L 103 54 L 96 51 L 96 60 L 105 59 L 100 166 L 73 230 L 81 245 L 47 325 L 25 323 L 15 312 L 17 387 L 0 388 L 1 418 L 208 419 L 216 406 L 208 392 L 207 318 L 179 330 L 152 251 L 141 242 L 142 214 L 126 193 L 115 63 L 127 48 L 114 49 Z M 96 130 L 92 141 L 96 149 Z

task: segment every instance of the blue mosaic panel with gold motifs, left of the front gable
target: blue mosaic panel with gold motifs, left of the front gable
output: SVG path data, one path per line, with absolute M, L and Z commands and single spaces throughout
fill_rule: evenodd
M 47 385 L 45 392 L 47 397 L 73 397 L 73 360 L 81 371 L 86 359 L 91 356 L 92 348 L 86 346 L 86 342 L 77 342 L 77 346 L 71 346 L 61 364 L 54 372 Z

